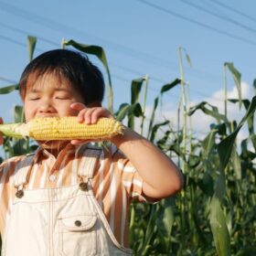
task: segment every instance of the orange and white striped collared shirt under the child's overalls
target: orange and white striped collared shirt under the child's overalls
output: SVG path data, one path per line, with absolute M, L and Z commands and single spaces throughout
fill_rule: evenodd
M 34 155 L 29 180 L 25 189 L 68 187 L 80 183 L 79 168 L 86 144 L 68 144 L 57 158 L 39 147 Z M 0 165 L 0 233 L 5 233 L 5 223 L 12 212 L 16 188 L 13 176 L 26 165 L 26 155 L 15 156 Z M 94 169 L 92 189 L 116 239 L 128 246 L 129 203 L 132 199 L 144 201 L 143 179 L 132 163 L 116 149 L 101 149 Z

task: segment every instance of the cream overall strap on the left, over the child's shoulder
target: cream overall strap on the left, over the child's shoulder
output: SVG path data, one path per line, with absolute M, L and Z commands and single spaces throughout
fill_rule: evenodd
M 16 165 L 14 176 L 14 187 L 24 187 L 28 183 L 29 171 L 33 165 L 35 154 L 27 155 Z

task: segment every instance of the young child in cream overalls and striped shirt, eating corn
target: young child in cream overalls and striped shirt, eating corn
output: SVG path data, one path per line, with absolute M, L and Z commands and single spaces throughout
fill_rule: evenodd
M 90 124 L 112 117 L 101 107 L 101 71 L 78 52 L 41 54 L 27 65 L 19 86 L 26 121 L 77 116 Z M 40 141 L 35 154 L 0 165 L 2 256 L 132 253 L 130 201 L 173 195 L 183 177 L 154 144 L 127 127 L 110 142 L 106 150 L 87 141 Z

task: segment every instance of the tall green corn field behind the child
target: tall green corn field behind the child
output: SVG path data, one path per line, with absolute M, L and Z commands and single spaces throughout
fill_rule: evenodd
M 36 42 L 35 37 L 28 37 L 30 59 L 33 59 Z M 176 159 L 183 170 L 185 187 L 179 194 L 157 204 L 131 205 L 129 239 L 133 254 L 256 255 L 256 166 L 253 162 L 256 156 L 253 122 L 256 97 L 241 98 L 240 72 L 234 65 L 230 62 L 223 65 L 223 113 L 207 101 L 190 106 L 182 57 L 185 54 L 188 63 L 190 59 L 183 48 L 178 48 L 180 74 L 161 87 L 147 121 L 148 76 L 132 80 L 130 103 L 113 110 L 111 73 L 103 48 L 73 40 L 63 40 L 62 47 L 75 48 L 101 60 L 108 80 L 108 109 L 130 128 L 140 127 L 137 132 L 144 133 L 166 155 Z M 238 99 L 227 99 L 227 75 L 236 84 Z M 163 95 L 174 87 L 180 87 L 177 129 L 170 121 L 157 123 L 155 118 Z M 6 86 L 0 89 L 0 94 L 16 89 L 17 85 Z M 245 110 L 240 122 L 228 119 L 228 102 Z M 204 138 L 196 137 L 190 125 L 192 116 L 199 111 L 214 119 Z M 22 106 L 16 106 L 14 115 L 16 122 L 23 120 Z M 247 129 L 249 135 L 239 144 L 237 135 L 241 128 Z M 5 155 L 0 163 L 6 157 L 27 154 L 36 148 L 33 141 L 5 138 Z

